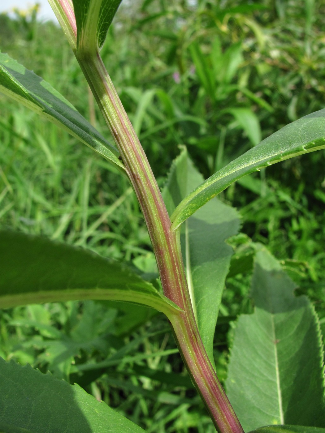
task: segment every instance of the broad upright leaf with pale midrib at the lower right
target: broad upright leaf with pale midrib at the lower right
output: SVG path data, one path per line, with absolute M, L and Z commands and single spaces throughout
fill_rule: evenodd
M 226 390 L 245 431 L 261 425 L 325 425 L 319 321 L 265 249 L 256 254 L 255 311 L 239 317 Z

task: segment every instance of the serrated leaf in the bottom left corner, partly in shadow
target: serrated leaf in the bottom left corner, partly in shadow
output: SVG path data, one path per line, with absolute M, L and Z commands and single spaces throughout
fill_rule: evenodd
M 144 433 L 78 385 L 0 358 L 0 432 Z M 26 430 L 17 430 L 27 429 Z

